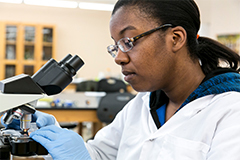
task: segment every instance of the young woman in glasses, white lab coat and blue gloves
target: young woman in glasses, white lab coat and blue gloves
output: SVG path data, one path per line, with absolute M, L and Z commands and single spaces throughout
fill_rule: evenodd
M 55 126 L 31 137 L 57 160 L 239 160 L 240 58 L 199 26 L 193 0 L 119 0 L 108 52 L 138 95 L 86 144 Z

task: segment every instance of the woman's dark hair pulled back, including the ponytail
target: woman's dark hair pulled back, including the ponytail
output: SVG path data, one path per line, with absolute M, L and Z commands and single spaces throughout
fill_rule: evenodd
M 118 0 L 112 15 L 121 7 L 134 6 L 156 20 L 159 25 L 182 26 L 187 32 L 187 46 L 193 59 L 200 59 L 204 74 L 219 67 L 220 60 L 237 70 L 240 56 L 221 43 L 199 37 L 200 14 L 194 0 Z

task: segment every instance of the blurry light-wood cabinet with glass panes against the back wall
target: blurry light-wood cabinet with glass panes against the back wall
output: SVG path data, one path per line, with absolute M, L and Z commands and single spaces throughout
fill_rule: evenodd
M 0 35 L 0 80 L 31 76 L 55 58 L 55 25 L 0 22 Z

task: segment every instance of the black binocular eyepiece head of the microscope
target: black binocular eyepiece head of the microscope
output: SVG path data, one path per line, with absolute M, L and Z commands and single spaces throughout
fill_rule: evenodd
M 50 59 L 32 79 L 47 95 L 58 94 L 71 83 L 72 77 L 83 65 L 80 57 L 68 54 L 59 63 Z

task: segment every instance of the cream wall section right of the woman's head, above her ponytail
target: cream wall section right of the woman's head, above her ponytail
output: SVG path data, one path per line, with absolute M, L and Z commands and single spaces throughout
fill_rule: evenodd
M 196 0 L 201 13 L 200 36 L 240 33 L 240 0 Z

